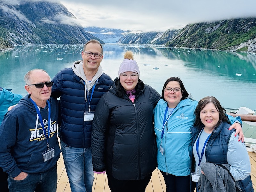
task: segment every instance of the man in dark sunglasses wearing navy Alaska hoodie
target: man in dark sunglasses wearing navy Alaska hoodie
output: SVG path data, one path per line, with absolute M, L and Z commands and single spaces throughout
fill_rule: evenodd
M 10 192 L 56 192 L 58 101 L 53 82 L 42 69 L 24 76 L 28 94 L 8 111 L 0 125 L 0 166 Z

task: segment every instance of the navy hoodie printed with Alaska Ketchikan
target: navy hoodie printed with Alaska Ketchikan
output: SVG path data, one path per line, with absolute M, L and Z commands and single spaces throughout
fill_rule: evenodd
M 26 173 L 44 172 L 56 165 L 60 157 L 57 140 L 58 101 L 50 98 L 51 128 L 48 138 L 49 148 L 54 148 L 55 157 L 44 162 L 43 152 L 47 151 L 47 141 L 35 106 L 26 95 L 4 116 L 0 125 L 0 167 L 11 177 Z M 48 105 L 40 108 L 46 134 L 48 135 Z M 35 132 L 36 130 L 36 132 Z

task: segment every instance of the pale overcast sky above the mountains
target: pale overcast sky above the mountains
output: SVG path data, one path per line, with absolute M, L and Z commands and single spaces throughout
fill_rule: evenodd
M 189 23 L 256 17 L 256 0 L 60 0 L 83 27 L 165 31 Z

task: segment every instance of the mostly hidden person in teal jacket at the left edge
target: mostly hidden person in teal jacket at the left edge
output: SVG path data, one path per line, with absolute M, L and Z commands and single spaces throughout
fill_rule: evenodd
M 15 94 L 11 92 L 12 89 L 4 89 L 0 87 L 0 124 L 3 121 L 4 115 L 7 112 L 8 108 L 12 105 L 16 105 L 22 95 Z M 8 183 L 7 183 L 7 173 L 3 172 L 3 169 L 0 167 L 0 186 L 2 192 L 8 192 Z

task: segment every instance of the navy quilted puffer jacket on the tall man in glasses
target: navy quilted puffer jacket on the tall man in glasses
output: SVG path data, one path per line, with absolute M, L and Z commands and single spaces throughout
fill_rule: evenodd
M 89 111 L 85 101 L 85 85 L 72 68 L 66 68 L 53 78 L 52 97 L 60 97 L 61 127 L 60 139 L 68 146 L 88 148 L 91 146 L 92 121 L 84 121 L 84 112 Z M 109 90 L 113 81 L 103 73 L 95 86 L 90 111 L 95 111 L 100 97 Z M 91 98 L 92 89 L 89 91 Z

